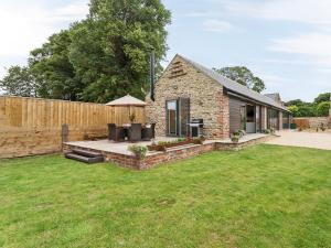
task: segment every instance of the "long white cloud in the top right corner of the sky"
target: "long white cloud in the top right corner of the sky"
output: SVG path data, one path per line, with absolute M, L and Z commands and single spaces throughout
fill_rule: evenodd
M 225 9 L 258 19 L 331 24 L 330 0 L 232 1 L 225 3 Z

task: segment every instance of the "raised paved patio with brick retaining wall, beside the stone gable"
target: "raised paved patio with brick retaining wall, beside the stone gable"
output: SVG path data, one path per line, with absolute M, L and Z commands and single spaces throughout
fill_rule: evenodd
M 160 163 L 186 159 L 214 150 L 237 151 L 244 147 L 265 142 L 271 138 L 274 138 L 274 136 L 253 133 L 243 137 L 238 143 L 233 143 L 229 139 L 206 140 L 202 144 L 190 143 L 168 148 L 166 151 L 148 151 L 146 158 L 142 160 L 136 158 L 134 153 L 128 151 L 128 148 L 131 144 L 149 145 L 152 143 L 151 141 L 141 141 L 135 143 L 114 142 L 109 140 L 65 142 L 63 143 L 63 152 L 68 153 L 75 149 L 85 150 L 88 152 L 97 152 L 104 157 L 106 162 L 113 162 L 122 166 L 142 170 Z M 177 140 L 177 138 L 158 137 L 154 142 L 172 140 Z

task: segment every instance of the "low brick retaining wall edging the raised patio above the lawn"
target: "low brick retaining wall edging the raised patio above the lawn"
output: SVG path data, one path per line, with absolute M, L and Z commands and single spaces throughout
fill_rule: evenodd
M 194 144 L 190 147 L 182 147 L 178 149 L 171 149 L 166 152 L 156 152 L 153 154 L 148 154 L 143 160 L 137 159 L 135 155 L 120 154 L 115 152 L 99 151 L 95 149 L 86 149 L 82 147 L 76 147 L 72 144 L 63 144 L 63 152 L 70 152 L 73 149 L 84 149 L 87 151 L 100 152 L 106 162 L 111 162 L 120 166 L 132 168 L 137 170 L 146 170 L 153 168 L 158 164 L 172 162 L 177 160 L 192 158 L 202 153 L 211 151 L 238 151 L 245 147 L 254 145 L 256 143 L 265 142 L 273 139 L 274 136 L 260 137 L 245 142 L 232 143 L 232 142 L 217 142 L 217 141 L 206 141 L 203 144 Z

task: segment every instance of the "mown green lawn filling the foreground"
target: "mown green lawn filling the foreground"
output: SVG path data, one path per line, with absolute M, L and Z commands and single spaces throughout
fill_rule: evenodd
M 0 164 L 0 247 L 331 247 L 330 151 L 260 144 L 149 171 Z

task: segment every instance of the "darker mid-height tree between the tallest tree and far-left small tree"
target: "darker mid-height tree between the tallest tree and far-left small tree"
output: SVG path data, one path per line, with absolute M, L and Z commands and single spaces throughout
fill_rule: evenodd
M 70 32 L 53 34 L 42 47 L 30 53 L 29 65 L 40 85 L 40 97 L 76 100 L 83 91 L 84 86 L 76 78 L 68 58 Z

